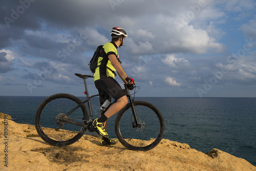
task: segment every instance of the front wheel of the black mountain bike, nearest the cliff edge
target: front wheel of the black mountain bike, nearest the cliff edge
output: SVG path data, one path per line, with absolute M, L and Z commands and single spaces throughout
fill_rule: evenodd
M 128 149 L 148 151 L 157 146 L 164 135 L 164 119 L 160 111 L 151 103 L 135 101 L 134 109 L 127 104 L 116 116 L 115 132 L 118 140 Z

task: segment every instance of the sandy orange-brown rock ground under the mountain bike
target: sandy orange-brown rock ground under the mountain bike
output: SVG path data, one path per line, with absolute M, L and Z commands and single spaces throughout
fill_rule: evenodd
M 34 125 L 8 120 L 6 136 L 4 123 L 0 119 L 0 170 L 256 170 L 219 149 L 204 154 L 167 139 L 147 152 L 130 151 L 121 143 L 102 147 L 99 136 L 86 135 L 72 145 L 56 147 L 38 137 Z

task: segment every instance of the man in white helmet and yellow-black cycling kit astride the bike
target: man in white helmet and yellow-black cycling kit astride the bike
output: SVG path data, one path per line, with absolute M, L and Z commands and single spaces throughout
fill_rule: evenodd
M 107 42 L 101 49 L 98 58 L 98 66 L 94 73 L 95 87 L 98 89 L 99 94 L 105 94 L 100 96 L 100 106 L 108 100 L 111 102 L 111 98 L 115 99 L 108 110 L 100 111 L 100 118 L 93 121 L 94 130 L 102 135 L 101 145 L 115 145 L 118 141 L 109 139 L 108 133 L 106 133 L 107 120 L 119 110 L 121 110 L 128 102 L 125 93 L 120 87 L 119 83 L 115 80 L 115 71 L 122 79 L 124 83 L 133 84 L 135 81 L 127 76 L 123 68 L 120 65 L 119 55 L 117 48 L 121 47 L 124 42 L 124 38 L 127 34 L 124 29 L 120 27 L 113 27 L 111 34 L 111 42 Z M 106 108 L 106 106 L 105 106 Z

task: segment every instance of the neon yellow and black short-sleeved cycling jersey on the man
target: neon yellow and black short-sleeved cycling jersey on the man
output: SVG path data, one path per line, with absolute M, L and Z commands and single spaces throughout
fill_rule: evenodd
M 94 73 L 94 81 L 104 78 L 104 77 L 112 77 L 115 78 L 116 69 L 112 66 L 112 63 L 109 60 L 109 55 L 116 55 L 118 58 L 117 46 L 114 42 L 107 42 L 101 49 L 98 65 Z

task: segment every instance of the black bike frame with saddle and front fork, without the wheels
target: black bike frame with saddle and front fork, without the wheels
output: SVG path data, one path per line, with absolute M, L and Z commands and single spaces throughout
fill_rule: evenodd
M 62 118 L 59 118 L 59 119 L 61 121 L 64 121 L 64 122 L 69 122 L 69 123 L 72 123 L 72 124 L 75 124 L 75 125 L 78 125 L 78 126 L 87 127 L 87 124 L 83 124 L 83 123 L 80 123 L 80 122 L 75 122 L 75 121 L 72 121 L 72 120 L 69 120 L 69 119 L 65 119 L 64 117 L 69 116 L 72 112 L 74 112 L 76 109 L 78 109 L 81 104 L 84 104 L 84 103 L 88 102 L 88 108 L 89 108 L 89 113 L 90 113 L 89 117 L 90 117 L 90 120 L 92 121 L 93 112 L 92 112 L 90 99 L 93 98 L 93 97 L 96 97 L 96 96 L 104 95 L 104 94 L 97 94 L 97 95 L 89 96 L 86 79 L 87 78 L 93 78 L 93 76 L 91 76 L 91 75 L 81 75 L 81 74 L 75 74 L 75 75 L 78 76 L 79 78 L 83 79 L 84 89 L 86 90 L 84 92 L 84 94 L 86 95 L 87 99 L 84 100 L 83 102 L 81 102 L 80 104 L 78 104 L 75 108 L 73 108 L 71 111 L 69 111 L 67 114 L 65 114 Z M 125 84 L 124 84 L 124 87 L 125 87 L 125 89 L 123 91 L 125 92 L 126 96 L 128 97 L 128 99 L 130 101 L 130 104 L 131 104 L 131 109 L 132 109 L 132 113 L 133 113 L 133 117 L 134 117 L 134 123 L 135 123 L 136 126 L 138 126 L 138 119 L 137 119 L 137 115 L 136 115 L 135 108 L 134 108 L 134 105 L 133 105 L 133 99 L 132 99 L 131 94 L 130 94 L 130 92 L 127 89 Z M 127 104 L 127 105 L 129 105 L 129 104 Z M 90 120 L 84 120 L 84 121 L 90 121 Z

